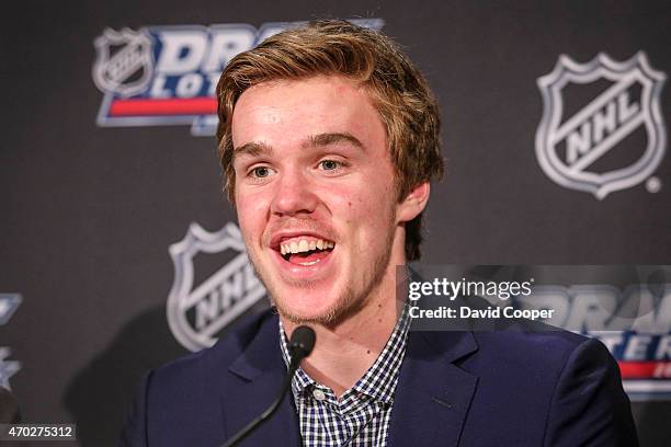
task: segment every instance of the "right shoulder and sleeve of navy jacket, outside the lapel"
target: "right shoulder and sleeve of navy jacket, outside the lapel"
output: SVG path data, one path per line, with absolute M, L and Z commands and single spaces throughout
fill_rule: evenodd
M 474 337 L 477 353 L 459 365 L 479 378 L 471 416 L 492 421 L 487 409 L 514 409 L 490 422 L 501 433 L 515 419 L 530 422 L 508 445 L 638 445 L 619 369 L 599 340 L 535 325 Z

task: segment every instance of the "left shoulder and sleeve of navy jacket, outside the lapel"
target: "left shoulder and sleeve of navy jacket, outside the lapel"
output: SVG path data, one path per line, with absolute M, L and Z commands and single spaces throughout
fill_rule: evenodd
M 246 317 L 214 346 L 149 371 L 135 394 L 120 445 L 220 444 L 224 399 L 240 383 L 226 371 L 254 342 L 262 341 L 257 345 L 268 351 L 276 342 L 274 333 L 278 335 L 272 310 Z

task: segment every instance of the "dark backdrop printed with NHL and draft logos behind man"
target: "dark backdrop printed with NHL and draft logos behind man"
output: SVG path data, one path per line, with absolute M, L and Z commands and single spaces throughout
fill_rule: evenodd
M 668 1 L 19 2 L 2 19 L 0 380 L 24 421 L 113 445 L 145 370 L 268 306 L 220 193 L 212 89 L 236 53 L 316 18 L 382 28 L 439 98 L 447 175 L 423 261 L 671 264 Z M 644 446 L 671 435 L 664 318 L 649 349 L 617 354 L 639 362 Z

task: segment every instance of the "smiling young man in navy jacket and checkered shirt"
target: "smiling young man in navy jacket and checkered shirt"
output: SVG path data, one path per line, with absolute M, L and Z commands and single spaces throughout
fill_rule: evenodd
M 315 349 L 243 445 L 637 444 L 599 342 L 409 330 L 396 267 L 419 259 L 443 161 L 435 100 L 390 39 L 286 31 L 237 56 L 217 94 L 229 198 L 276 312 L 152 371 L 125 445 L 220 445 L 274 399 L 299 324 Z

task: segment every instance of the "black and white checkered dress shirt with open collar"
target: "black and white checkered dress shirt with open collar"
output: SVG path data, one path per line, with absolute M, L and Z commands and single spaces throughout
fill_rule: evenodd
M 298 368 L 292 381 L 294 403 L 307 447 L 384 447 L 387 445 L 394 391 L 406 353 L 409 328 L 403 309 L 382 354 L 366 374 L 338 401 L 331 389 Z M 282 356 L 288 365 L 286 335 L 280 322 Z

